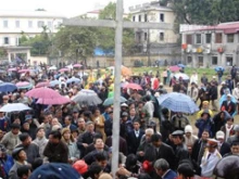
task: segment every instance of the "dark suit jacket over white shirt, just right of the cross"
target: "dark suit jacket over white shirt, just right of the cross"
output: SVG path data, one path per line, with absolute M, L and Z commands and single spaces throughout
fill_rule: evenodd
M 142 130 L 139 130 L 139 137 L 137 138 L 135 135 L 135 130 L 130 131 L 128 133 L 127 138 L 127 145 L 128 145 L 128 153 L 136 154 L 137 149 L 139 148 L 140 140 L 144 132 Z

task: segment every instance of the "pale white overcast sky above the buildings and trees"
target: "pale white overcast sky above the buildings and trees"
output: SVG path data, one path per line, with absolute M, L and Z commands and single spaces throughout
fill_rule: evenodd
M 34 11 L 45 9 L 66 17 L 80 15 L 83 13 L 96 10 L 96 5 L 106 5 L 109 2 L 116 0 L 0 0 L 0 11 Z M 124 0 L 124 9 L 151 0 Z

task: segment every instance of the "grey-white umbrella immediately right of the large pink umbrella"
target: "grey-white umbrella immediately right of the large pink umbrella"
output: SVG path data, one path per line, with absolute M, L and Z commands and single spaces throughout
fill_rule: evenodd
M 72 99 L 76 103 L 87 104 L 87 105 L 98 105 L 101 104 L 102 101 L 98 97 L 98 94 L 93 90 L 83 89 L 79 93 Z

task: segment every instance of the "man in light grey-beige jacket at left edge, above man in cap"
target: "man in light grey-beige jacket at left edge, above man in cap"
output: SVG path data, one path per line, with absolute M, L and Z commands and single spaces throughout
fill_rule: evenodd
M 21 133 L 20 128 L 21 126 L 18 124 L 12 124 L 11 130 L 4 135 L 0 142 L 5 146 L 7 153 L 10 155 L 12 154 L 13 149 L 21 143 L 18 139 L 18 135 Z

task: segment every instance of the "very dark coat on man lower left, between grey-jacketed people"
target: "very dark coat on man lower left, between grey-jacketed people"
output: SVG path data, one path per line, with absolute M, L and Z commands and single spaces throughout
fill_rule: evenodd
M 50 163 L 68 163 L 68 148 L 62 141 L 56 145 L 48 142 L 43 155 L 48 157 Z

